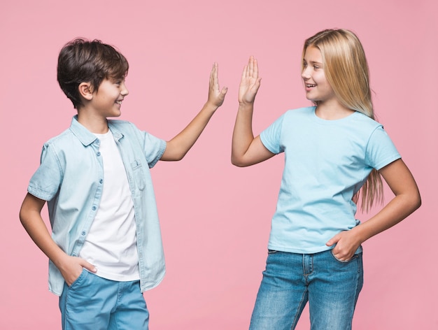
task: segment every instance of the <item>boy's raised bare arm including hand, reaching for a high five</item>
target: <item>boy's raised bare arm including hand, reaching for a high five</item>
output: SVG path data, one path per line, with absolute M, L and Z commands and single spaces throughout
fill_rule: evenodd
M 225 94 L 227 94 L 227 87 L 219 89 L 218 64 L 215 63 L 210 74 L 209 99 L 190 124 L 177 136 L 167 141 L 166 150 L 160 160 L 177 161 L 183 159 L 204 131 L 213 113 L 222 106 Z

